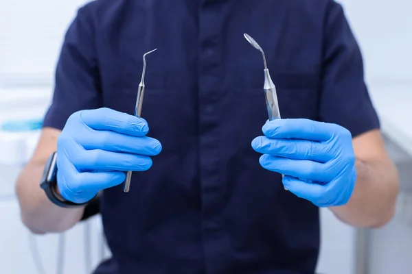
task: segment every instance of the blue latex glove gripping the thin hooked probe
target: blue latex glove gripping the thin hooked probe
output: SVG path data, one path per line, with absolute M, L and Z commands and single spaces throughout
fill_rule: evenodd
M 72 114 L 57 143 L 57 186 L 62 197 L 84 203 L 122 184 L 124 171 L 146 171 L 161 151 L 144 119 L 108 108 Z

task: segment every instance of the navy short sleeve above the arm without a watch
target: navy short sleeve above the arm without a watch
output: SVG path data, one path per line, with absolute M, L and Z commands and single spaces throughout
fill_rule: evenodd
M 325 20 L 321 121 L 347 128 L 355 137 L 380 123 L 363 72 L 363 60 L 343 8 L 330 1 Z

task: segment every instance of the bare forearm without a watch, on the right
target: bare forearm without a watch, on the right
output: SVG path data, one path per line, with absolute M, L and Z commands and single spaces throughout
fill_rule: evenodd
M 356 227 L 385 225 L 395 210 L 399 182 L 396 167 L 389 160 L 356 160 L 356 184 L 345 206 L 332 207 L 334 214 Z

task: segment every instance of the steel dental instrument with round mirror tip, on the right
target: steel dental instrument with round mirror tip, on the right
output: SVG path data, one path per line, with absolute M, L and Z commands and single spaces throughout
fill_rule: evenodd
M 274 119 L 280 119 L 279 103 L 277 101 L 276 87 L 273 84 L 271 75 L 269 74 L 268 66 L 266 65 L 266 58 L 264 57 L 264 52 L 262 47 L 251 38 L 249 34 L 243 34 L 244 38 L 255 48 L 262 53 L 263 63 L 264 63 L 264 95 L 266 100 L 266 108 L 268 109 L 269 121 Z M 282 178 L 284 175 L 282 174 Z M 285 188 L 285 190 L 287 190 Z

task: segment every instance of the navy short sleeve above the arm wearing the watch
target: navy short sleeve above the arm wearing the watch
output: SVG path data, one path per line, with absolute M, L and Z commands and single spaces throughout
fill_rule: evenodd
M 43 127 L 63 129 L 74 112 L 100 107 L 97 64 L 93 24 L 86 5 L 78 10 L 65 34 L 56 66 L 54 95 Z

